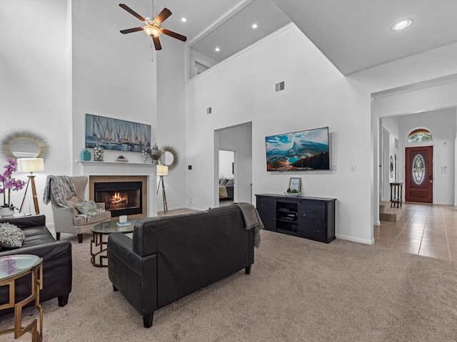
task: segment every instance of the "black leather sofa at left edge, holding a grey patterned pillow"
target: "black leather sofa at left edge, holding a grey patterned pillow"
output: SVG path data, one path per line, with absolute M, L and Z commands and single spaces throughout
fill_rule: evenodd
M 65 306 L 71 292 L 72 261 L 71 242 L 56 241 L 46 227 L 44 215 L 1 218 L 0 222 L 9 222 L 21 228 L 25 235 L 22 247 L 0 249 L 0 257 L 11 254 L 34 254 L 43 258 L 43 289 L 40 291 L 40 302 L 57 298 L 59 306 Z M 16 301 L 30 295 L 30 277 L 16 281 Z M 0 287 L 0 302 L 8 299 L 8 286 Z M 0 310 L 0 316 L 9 314 L 13 309 Z

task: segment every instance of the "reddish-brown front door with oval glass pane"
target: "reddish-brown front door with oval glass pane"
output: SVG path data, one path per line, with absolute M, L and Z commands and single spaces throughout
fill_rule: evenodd
M 433 146 L 406 147 L 406 202 L 433 203 Z

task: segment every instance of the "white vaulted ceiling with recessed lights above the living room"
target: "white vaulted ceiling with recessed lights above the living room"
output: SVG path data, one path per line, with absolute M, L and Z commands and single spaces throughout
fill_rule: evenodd
M 142 16 L 151 13 L 151 1 L 124 3 Z M 216 61 L 290 21 L 344 75 L 457 42 L 457 0 L 154 0 L 155 14 L 164 7 L 173 15 L 162 26 L 184 34 L 191 48 Z M 401 19 L 413 19 L 413 25 L 391 31 Z M 141 23 L 132 16 L 121 28 L 140 26 L 135 24 Z M 161 42 L 166 39 L 173 38 Z M 160 53 L 166 53 L 162 45 Z

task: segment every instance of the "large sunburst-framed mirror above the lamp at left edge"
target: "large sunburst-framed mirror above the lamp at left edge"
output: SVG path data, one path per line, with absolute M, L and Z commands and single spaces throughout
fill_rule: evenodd
M 18 129 L 7 132 L 0 140 L 0 155 L 8 158 L 44 158 L 49 152 L 49 142 L 44 135 L 31 130 Z

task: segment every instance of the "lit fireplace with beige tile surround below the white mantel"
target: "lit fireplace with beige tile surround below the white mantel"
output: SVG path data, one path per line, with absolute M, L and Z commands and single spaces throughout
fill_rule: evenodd
M 127 215 L 146 217 L 146 177 L 142 176 L 91 176 L 89 198 L 103 202 L 111 217 Z

